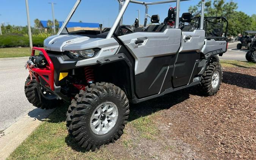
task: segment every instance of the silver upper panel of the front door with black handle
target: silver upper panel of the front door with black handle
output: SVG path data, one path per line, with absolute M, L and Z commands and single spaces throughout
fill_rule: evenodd
M 135 32 L 118 38 L 135 58 L 135 75 L 138 75 L 146 70 L 154 57 L 177 53 L 181 30 L 167 28 L 164 32 Z M 141 43 L 136 44 L 138 41 Z

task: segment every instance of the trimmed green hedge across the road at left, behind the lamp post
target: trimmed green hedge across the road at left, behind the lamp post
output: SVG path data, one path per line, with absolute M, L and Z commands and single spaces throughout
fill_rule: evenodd
M 33 46 L 43 47 L 46 37 L 33 36 Z M 22 35 L 2 35 L 0 36 L 0 48 L 4 47 L 29 47 L 28 36 Z

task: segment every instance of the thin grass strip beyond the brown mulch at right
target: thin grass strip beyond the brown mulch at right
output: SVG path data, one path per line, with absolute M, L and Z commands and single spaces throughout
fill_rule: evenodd
M 256 63 L 247 61 L 220 60 L 222 67 L 256 68 Z

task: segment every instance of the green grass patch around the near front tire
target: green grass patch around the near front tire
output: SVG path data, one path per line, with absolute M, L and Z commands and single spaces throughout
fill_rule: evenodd
M 108 146 L 102 146 L 95 152 L 86 152 L 72 141 L 66 129 L 66 111 L 68 105 L 57 108 L 49 118 L 42 122 L 28 138 L 18 146 L 8 157 L 8 160 L 51 160 L 51 159 L 115 159 L 115 152 L 110 152 Z M 152 122 L 154 115 L 144 117 L 130 116 L 130 122 L 126 127 L 131 127 L 139 133 L 136 139 L 154 139 L 158 130 Z M 128 148 L 135 147 L 130 140 L 130 133 L 124 134 L 119 141 L 124 152 Z M 109 146 L 113 147 L 113 146 Z M 120 146 L 119 146 L 120 147 Z

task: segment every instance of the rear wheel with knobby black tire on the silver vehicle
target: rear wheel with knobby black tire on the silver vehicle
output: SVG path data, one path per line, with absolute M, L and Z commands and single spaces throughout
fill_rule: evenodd
M 220 89 L 222 81 L 222 67 L 218 62 L 210 63 L 203 73 L 201 85 L 206 96 L 215 95 Z

